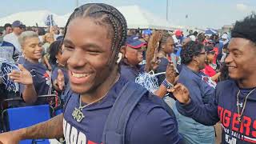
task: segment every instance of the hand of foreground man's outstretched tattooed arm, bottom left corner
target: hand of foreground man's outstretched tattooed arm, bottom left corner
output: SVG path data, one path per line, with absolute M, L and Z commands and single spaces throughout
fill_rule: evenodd
M 18 144 L 20 140 L 18 134 L 14 134 L 13 132 L 0 134 L 0 144 Z

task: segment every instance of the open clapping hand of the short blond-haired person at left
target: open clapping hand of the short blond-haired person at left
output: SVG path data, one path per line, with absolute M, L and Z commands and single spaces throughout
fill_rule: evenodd
M 18 70 L 13 70 L 9 75 L 10 79 L 14 80 L 14 82 L 22 83 L 24 85 L 32 85 L 33 78 L 30 74 L 30 71 L 26 70 L 22 65 L 18 65 Z

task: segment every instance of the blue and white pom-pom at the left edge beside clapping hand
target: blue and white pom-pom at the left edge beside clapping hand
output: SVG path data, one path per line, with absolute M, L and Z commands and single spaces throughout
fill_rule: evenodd
M 11 80 L 7 74 L 9 74 L 12 70 L 19 70 L 18 66 L 15 65 L 14 62 L 10 62 L 6 59 L 0 58 L 0 67 L 0 80 L 2 81 L 2 84 L 6 87 L 6 90 L 17 92 L 18 83 Z

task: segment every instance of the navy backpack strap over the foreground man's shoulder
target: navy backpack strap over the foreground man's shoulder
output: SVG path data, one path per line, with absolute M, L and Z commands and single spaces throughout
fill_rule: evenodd
M 149 94 L 144 87 L 137 83 L 127 82 L 119 92 L 106 119 L 102 134 L 103 144 L 125 144 L 125 132 L 128 120 L 135 106 L 144 96 L 148 96 L 151 102 L 162 106 L 168 114 L 175 117 L 174 112 L 162 99 Z

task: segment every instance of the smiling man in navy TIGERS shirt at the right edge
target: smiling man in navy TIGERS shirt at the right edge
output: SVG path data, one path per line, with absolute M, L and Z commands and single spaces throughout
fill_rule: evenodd
M 178 111 L 204 125 L 222 123 L 222 143 L 256 143 L 256 15 L 236 22 L 226 57 L 230 80 L 219 82 L 214 100 L 198 105 L 188 90 L 174 92 Z

